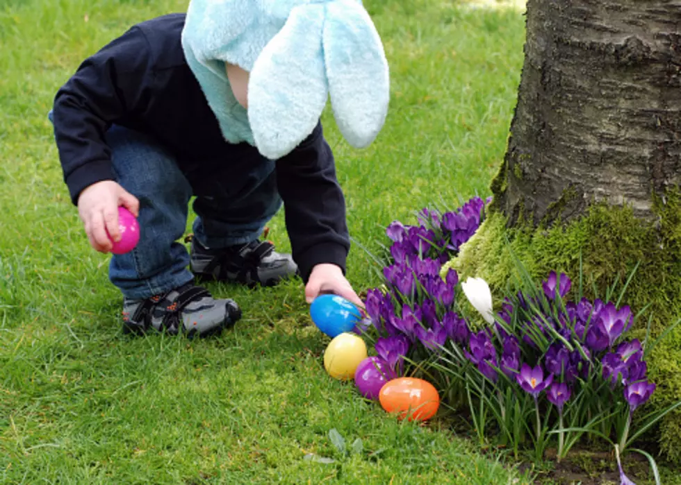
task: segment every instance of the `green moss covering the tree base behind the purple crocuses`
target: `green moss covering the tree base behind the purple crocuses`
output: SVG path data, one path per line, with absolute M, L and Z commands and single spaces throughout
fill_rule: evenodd
M 493 211 L 445 268 L 456 269 L 461 278 L 484 278 L 500 290 L 516 275 L 511 251 L 537 281 L 552 270 L 577 277 L 581 254 L 584 293 L 593 298 L 592 281 L 603 296 L 615 278 L 624 282 L 639 263 L 622 304 L 634 312 L 650 304 L 646 315 L 653 316 L 657 336 L 681 318 L 681 190 L 655 201 L 655 212 L 657 219 L 647 222 L 630 207 L 593 205 L 566 226 L 535 229 L 529 224 L 507 228 L 506 217 Z M 646 323 L 647 317 L 639 318 L 634 337 L 644 337 Z M 648 364 L 650 380 L 657 383 L 652 404 L 662 409 L 681 399 L 681 325 L 659 343 Z M 662 452 L 681 463 L 681 411 L 667 415 L 660 432 Z

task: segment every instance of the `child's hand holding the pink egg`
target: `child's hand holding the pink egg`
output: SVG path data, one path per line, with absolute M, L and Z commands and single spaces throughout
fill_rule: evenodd
M 90 246 L 100 253 L 108 253 L 114 241 L 120 241 L 118 207 L 123 205 L 138 216 L 140 201 L 113 180 L 102 180 L 85 188 L 78 198 L 78 215 L 85 226 Z

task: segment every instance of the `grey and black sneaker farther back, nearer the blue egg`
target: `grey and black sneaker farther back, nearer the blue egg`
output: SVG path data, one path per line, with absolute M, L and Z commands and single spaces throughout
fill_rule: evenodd
M 291 255 L 277 253 L 270 241 L 256 239 L 249 244 L 223 249 L 205 248 L 195 237 L 191 242 L 190 269 L 199 281 L 271 287 L 298 272 Z

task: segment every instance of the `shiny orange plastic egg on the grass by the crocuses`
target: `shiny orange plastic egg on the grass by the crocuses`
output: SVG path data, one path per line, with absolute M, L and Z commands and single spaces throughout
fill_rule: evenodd
M 379 393 L 381 407 L 388 413 L 399 413 L 397 418 L 426 420 L 440 407 L 440 396 L 433 384 L 415 377 L 390 380 Z

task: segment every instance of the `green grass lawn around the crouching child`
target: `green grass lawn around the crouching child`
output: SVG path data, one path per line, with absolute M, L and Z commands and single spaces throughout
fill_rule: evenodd
M 332 380 L 328 339 L 300 281 L 212 285 L 245 316 L 217 339 L 120 331 L 108 257 L 69 202 L 47 111 L 88 54 L 186 1 L 0 0 L 0 482 L 461 483 L 522 477 L 443 423 L 398 423 Z M 354 244 L 348 278 L 377 284 L 360 248 L 393 219 L 486 195 L 504 154 L 522 62 L 517 12 L 432 1 L 368 2 L 391 62 L 391 111 L 370 148 L 325 114 Z M 273 239 L 288 248 L 279 214 Z M 189 227 L 189 223 L 188 223 Z M 336 428 L 361 455 L 343 457 Z M 441 428 L 441 429 L 439 429 Z M 307 453 L 336 459 L 304 461 Z

